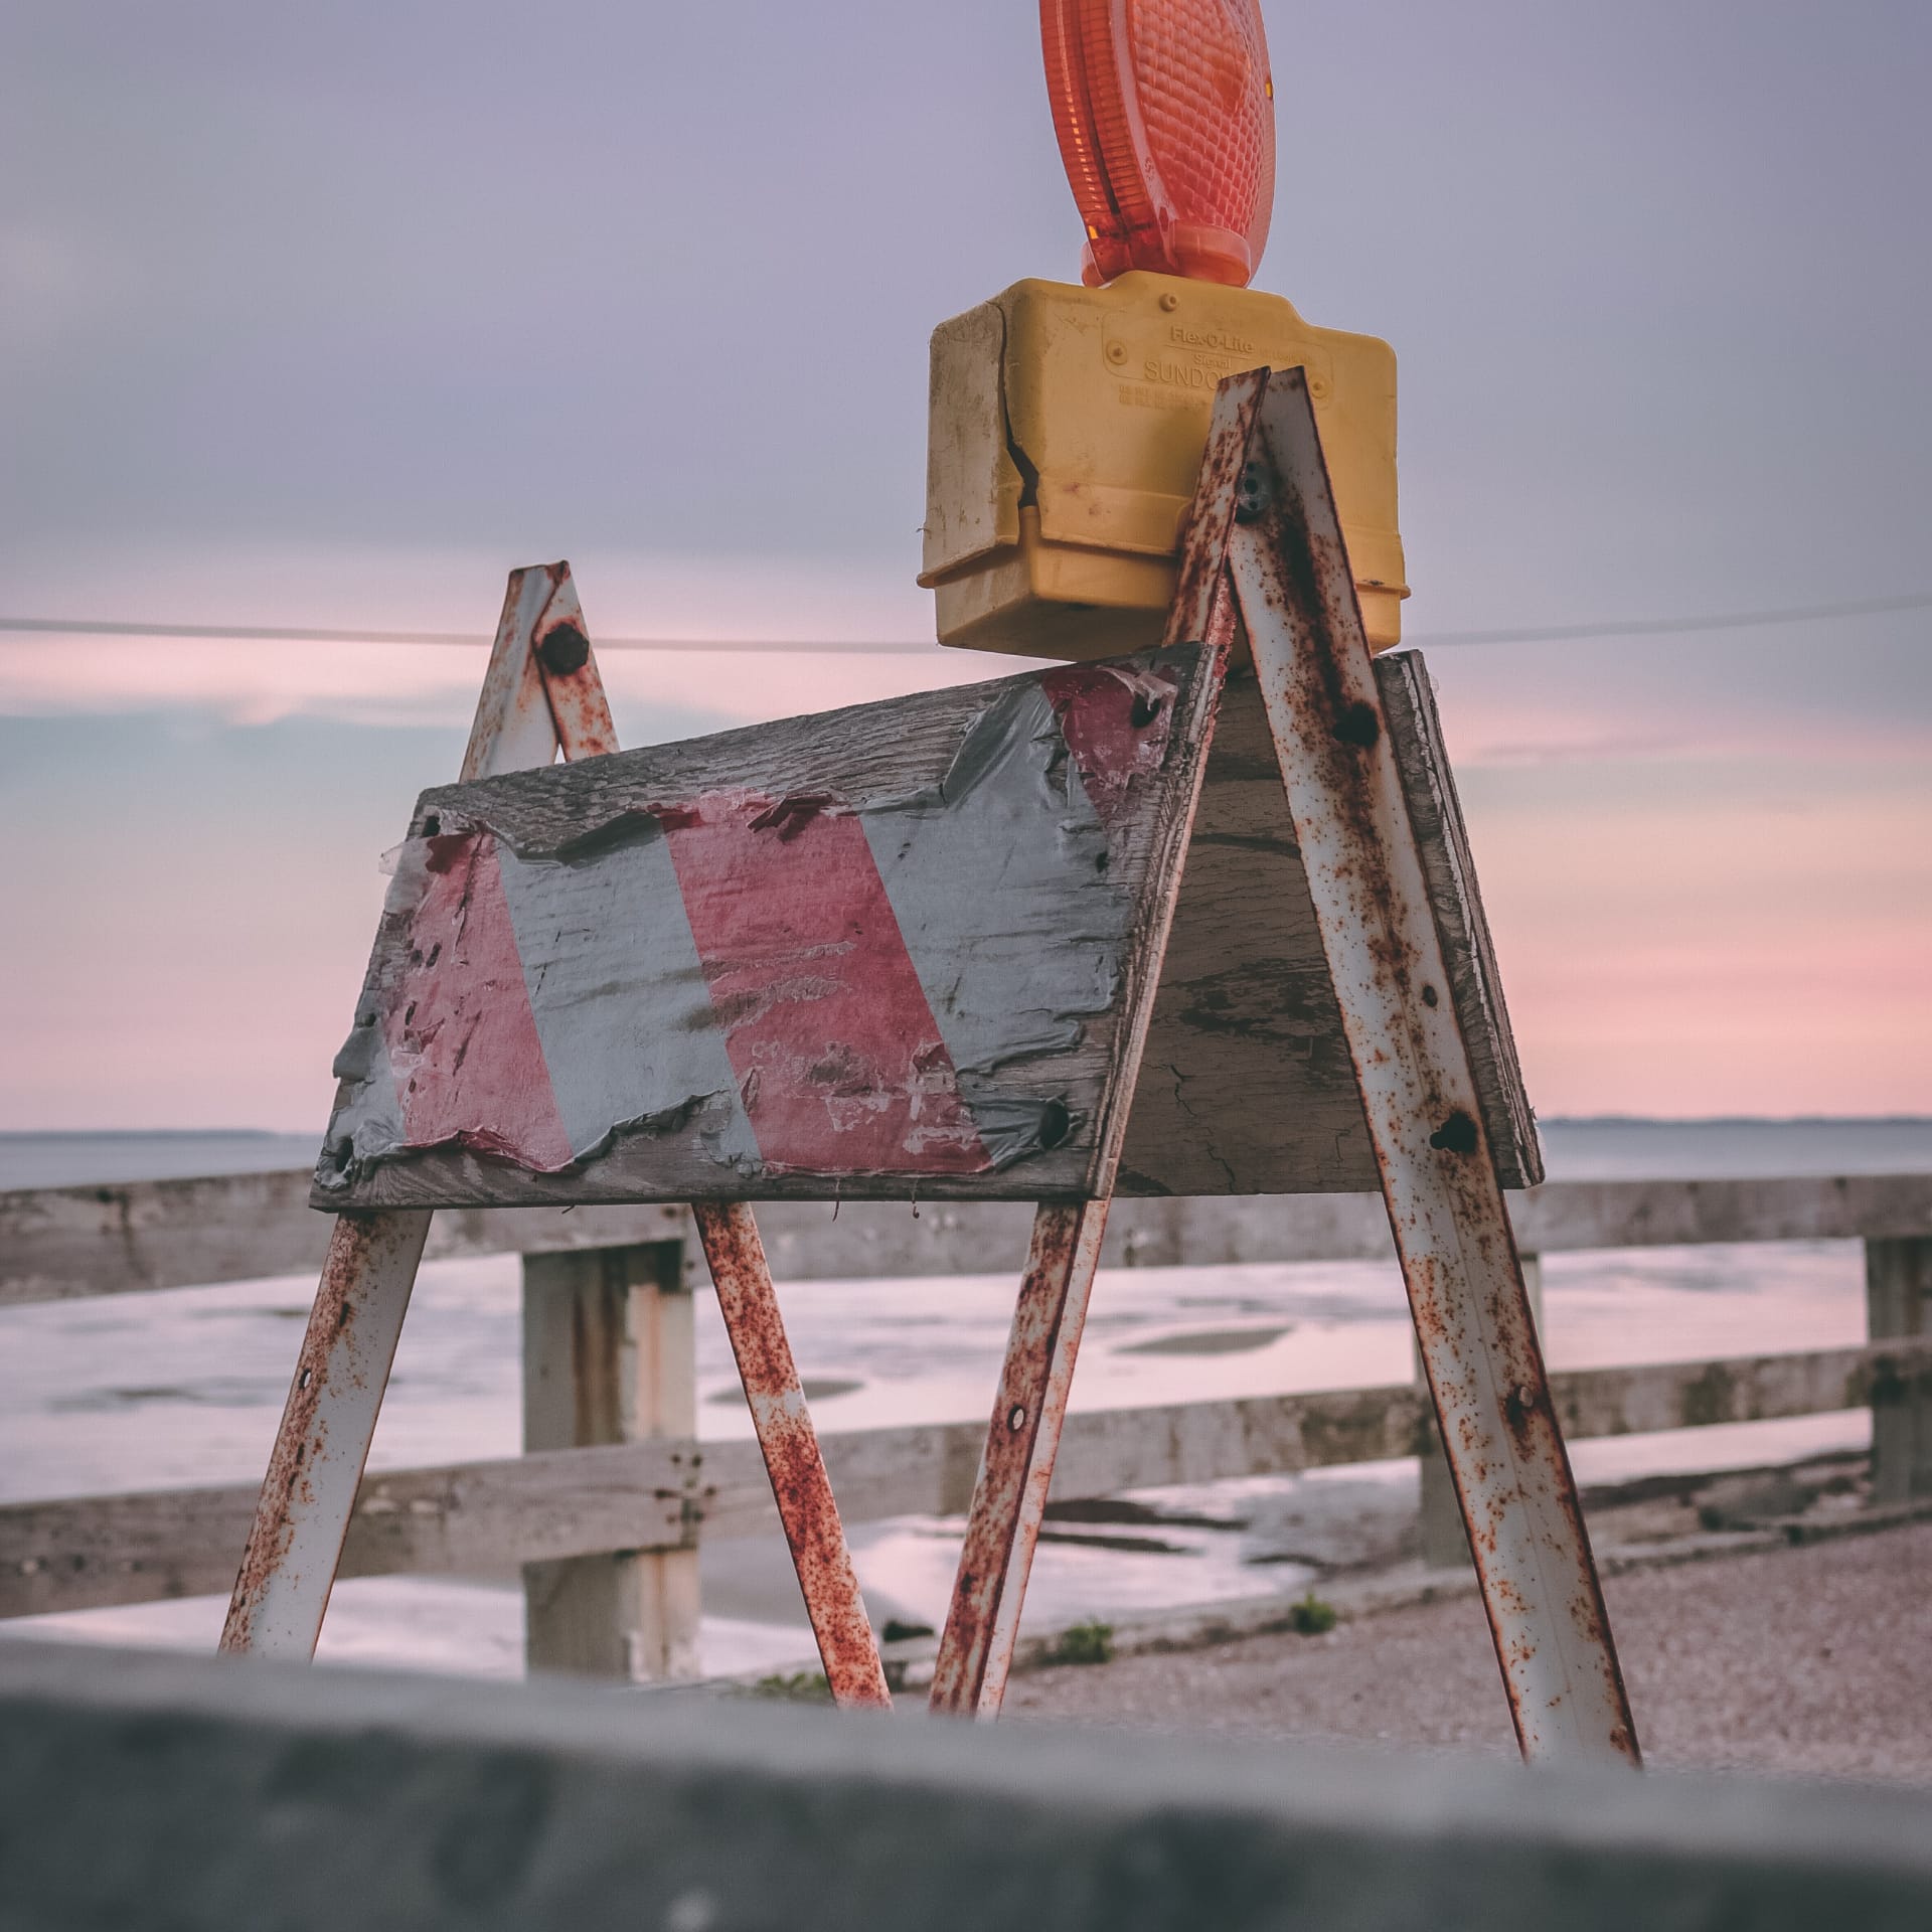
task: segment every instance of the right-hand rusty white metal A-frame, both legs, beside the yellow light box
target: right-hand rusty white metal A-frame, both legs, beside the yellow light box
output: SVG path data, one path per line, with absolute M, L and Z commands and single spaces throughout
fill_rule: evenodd
M 1636 1762 L 1629 1698 L 1298 369 L 1252 371 L 1221 384 L 1165 641 L 1213 641 L 1225 670 L 1236 607 L 1519 1747 L 1526 1758 Z M 1211 711 L 1204 728 L 1213 730 Z M 1179 867 L 1169 914 L 1177 893 Z M 1121 1074 L 1128 1082 L 1140 1045 L 1128 1047 Z M 1103 1163 L 1109 1186 L 1117 1153 L 1107 1150 Z M 993 1716 L 1005 1690 L 1105 1204 L 1076 1209 L 1090 1242 L 1066 1240 L 1057 1219 L 1066 1213 L 1041 1208 L 1036 1225 L 1003 1406 L 993 1414 L 941 1640 L 935 1710 Z

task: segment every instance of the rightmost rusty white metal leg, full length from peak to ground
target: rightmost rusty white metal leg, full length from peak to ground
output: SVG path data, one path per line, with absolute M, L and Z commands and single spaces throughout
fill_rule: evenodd
M 1636 1731 L 1449 997 L 1300 371 L 1262 406 L 1229 564 L 1526 1758 Z

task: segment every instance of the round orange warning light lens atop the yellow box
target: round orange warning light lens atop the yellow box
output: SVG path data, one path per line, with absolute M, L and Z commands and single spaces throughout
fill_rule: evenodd
M 1053 131 L 1092 288 L 1128 269 L 1242 288 L 1275 205 L 1258 0 L 1039 0 Z

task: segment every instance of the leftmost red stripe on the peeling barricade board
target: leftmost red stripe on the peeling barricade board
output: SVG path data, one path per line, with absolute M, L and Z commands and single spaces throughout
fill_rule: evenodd
M 431 838 L 410 966 L 383 1020 L 412 1148 L 462 1142 L 533 1173 L 570 1165 L 489 833 Z

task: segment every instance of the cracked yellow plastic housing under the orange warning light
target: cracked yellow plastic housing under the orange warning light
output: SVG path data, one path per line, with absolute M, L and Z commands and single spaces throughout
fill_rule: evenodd
M 1146 272 L 1016 282 L 933 330 L 920 583 L 939 641 L 1159 641 L 1215 384 L 1256 367 L 1308 371 L 1368 641 L 1399 643 L 1395 352 L 1279 296 Z

